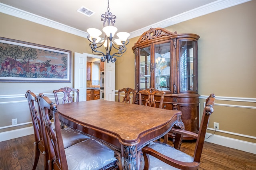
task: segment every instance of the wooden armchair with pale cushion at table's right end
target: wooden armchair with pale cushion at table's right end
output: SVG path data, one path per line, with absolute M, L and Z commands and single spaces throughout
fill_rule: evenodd
M 174 147 L 171 147 L 166 143 L 152 142 L 148 146 L 142 148 L 145 162 L 144 170 L 172 170 L 177 168 L 183 170 L 197 170 L 200 164 L 208 121 L 210 115 L 214 111 L 214 101 L 214 94 L 210 94 L 206 99 L 198 134 L 182 129 L 171 129 L 171 131 L 175 133 Z M 183 135 L 188 135 L 189 137 L 196 139 L 194 156 L 190 156 L 179 150 Z

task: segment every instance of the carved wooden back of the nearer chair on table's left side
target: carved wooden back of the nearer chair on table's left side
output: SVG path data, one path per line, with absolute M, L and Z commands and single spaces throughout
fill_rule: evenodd
M 40 119 L 45 128 L 44 136 L 47 137 L 47 146 L 49 148 L 49 168 L 51 170 L 68 170 L 60 126 L 55 126 L 55 134 L 52 127 L 52 121 L 49 118 L 50 115 L 53 115 L 54 124 L 60 125 L 57 105 L 42 93 L 38 95 L 38 104 L 40 109 Z

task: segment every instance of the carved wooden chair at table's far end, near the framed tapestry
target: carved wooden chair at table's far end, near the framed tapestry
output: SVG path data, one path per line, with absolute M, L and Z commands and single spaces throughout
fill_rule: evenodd
M 64 87 L 60 88 L 59 90 L 53 90 L 56 104 L 59 104 L 58 94 L 60 94 L 60 92 L 64 94 L 64 97 L 62 98 L 62 104 L 74 102 L 70 94 L 71 92 L 74 92 L 74 99 L 76 99 L 76 102 L 79 101 L 79 89 L 74 89 L 72 87 Z

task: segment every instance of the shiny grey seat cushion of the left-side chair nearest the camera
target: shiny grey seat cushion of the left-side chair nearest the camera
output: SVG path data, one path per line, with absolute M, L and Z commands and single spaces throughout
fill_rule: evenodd
M 65 149 L 69 170 L 99 170 L 116 161 L 114 151 L 94 139 Z

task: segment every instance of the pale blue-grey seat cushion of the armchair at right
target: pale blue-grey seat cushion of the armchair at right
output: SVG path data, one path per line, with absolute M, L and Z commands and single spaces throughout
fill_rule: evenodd
M 170 157 L 175 160 L 179 160 L 182 162 L 193 162 L 193 157 L 185 154 L 184 152 L 181 152 L 180 150 L 174 149 L 174 147 L 171 147 L 170 145 L 167 145 L 165 143 L 158 143 L 158 142 L 152 142 L 148 145 L 148 147 Z M 150 170 L 178 170 L 178 168 L 174 168 L 161 160 L 155 158 L 154 156 L 149 155 L 150 159 Z M 142 166 L 141 170 L 144 168 L 144 158 L 142 156 Z

